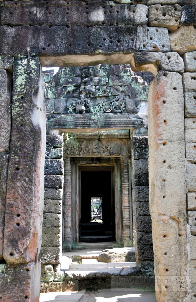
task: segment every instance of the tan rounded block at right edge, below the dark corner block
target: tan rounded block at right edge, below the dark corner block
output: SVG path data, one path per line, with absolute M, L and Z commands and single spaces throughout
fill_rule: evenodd
M 194 26 L 180 26 L 169 34 L 171 50 L 179 54 L 196 50 L 196 29 Z

